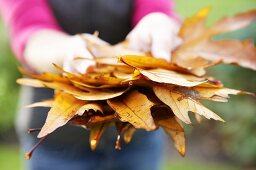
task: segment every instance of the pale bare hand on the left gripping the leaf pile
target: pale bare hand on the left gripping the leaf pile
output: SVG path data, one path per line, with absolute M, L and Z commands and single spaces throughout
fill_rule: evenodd
M 52 63 L 74 73 L 85 73 L 89 66 L 95 65 L 93 60 L 74 60 L 76 57 L 93 58 L 80 36 L 52 30 L 33 34 L 25 47 L 24 56 L 28 65 L 38 72 L 55 73 Z

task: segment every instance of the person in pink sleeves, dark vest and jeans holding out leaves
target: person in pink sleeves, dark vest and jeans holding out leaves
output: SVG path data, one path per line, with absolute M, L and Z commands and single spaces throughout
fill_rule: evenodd
M 72 72 L 84 73 L 88 60 L 72 62 L 75 56 L 91 58 L 86 43 L 77 36 L 94 31 L 116 44 L 125 39 L 129 48 L 151 52 L 170 61 L 171 51 L 181 42 L 179 18 L 172 0 L 0 0 L 1 13 L 10 29 L 11 46 L 24 67 L 36 72 L 54 72 L 52 63 Z M 22 87 L 20 105 L 53 96 L 49 89 Z M 20 109 L 17 132 L 23 153 L 37 141 L 28 128 L 42 127 L 46 108 Z M 115 133 L 107 130 L 96 151 L 91 151 L 88 130 L 65 125 L 42 143 L 26 169 L 30 170 L 156 170 L 162 160 L 159 132 L 135 133 L 133 141 L 114 149 Z

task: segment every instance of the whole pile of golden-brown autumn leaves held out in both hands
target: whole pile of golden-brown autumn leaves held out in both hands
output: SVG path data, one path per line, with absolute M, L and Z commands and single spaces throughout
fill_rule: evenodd
M 18 83 L 55 90 L 52 100 L 28 106 L 51 107 L 38 138 L 44 139 L 70 123 L 90 129 L 89 142 L 95 149 L 106 128 L 114 125 L 118 132 L 115 147 L 120 149 L 121 140 L 129 143 L 136 129 L 162 128 L 184 155 L 182 123 L 191 123 L 189 112 L 199 122 L 202 117 L 224 121 L 200 100 L 227 102 L 229 94 L 250 94 L 225 88 L 220 81 L 205 76 L 205 68 L 232 63 L 256 69 L 252 41 L 212 40 L 216 34 L 247 26 L 255 20 L 256 11 L 227 17 L 205 27 L 208 12 L 208 8 L 202 9 L 184 22 L 179 33 L 183 43 L 172 53 L 171 63 L 146 54 L 120 55 L 129 54 L 125 43 L 110 46 L 87 40 L 90 51 L 97 56 L 97 66 L 88 73 L 69 73 L 57 65 L 54 66 L 60 74 L 33 74 L 20 69 L 32 79 L 18 79 Z

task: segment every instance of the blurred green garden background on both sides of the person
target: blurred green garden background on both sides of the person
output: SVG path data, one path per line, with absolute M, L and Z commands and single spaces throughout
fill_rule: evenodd
M 212 6 L 207 24 L 223 16 L 256 8 L 256 0 L 176 0 L 176 10 L 182 18 L 191 16 L 200 8 Z M 256 24 L 236 32 L 216 37 L 256 39 Z M 0 19 L 0 169 L 21 169 L 14 115 L 20 76 L 13 57 L 7 29 Z M 220 79 L 227 87 L 256 92 L 256 72 L 236 66 L 220 65 L 209 74 Z M 203 121 L 186 127 L 187 156 L 181 158 L 167 143 L 164 170 L 200 169 L 256 169 L 256 100 L 250 96 L 232 96 L 229 103 L 205 103 L 222 116 L 226 123 Z

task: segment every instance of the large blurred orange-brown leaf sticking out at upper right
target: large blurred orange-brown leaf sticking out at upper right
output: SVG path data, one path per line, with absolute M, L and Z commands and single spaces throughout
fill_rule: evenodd
M 173 52 L 172 62 L 190 69 L 191 72 L 199 76 L 205 73 L 204 68 L 219 62 L 237 64 L 256 70 L 256 49 L 252 41 L 211 40 L 211 36 L 215 34 L 247 26 L 255 20 L 256 10 L 224 18 L 209 28 L 206 28 L 204 24 L 208 13 L 207 9 L 201 12 L 200 17 L 195 15 L 185 21 L 184 28 L 180 32 L 184 42 Z M 195 64 L 198 57 L 206 61 L 200 59 L 200 62 Z

